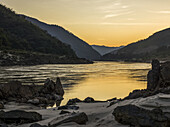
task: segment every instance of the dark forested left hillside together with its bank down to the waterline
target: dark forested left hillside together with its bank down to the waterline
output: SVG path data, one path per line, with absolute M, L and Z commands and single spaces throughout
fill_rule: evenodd
M 41 64 L 53 63 L 51 62 L 53 59 L 56 60 L 54 63 L 59 63 L 60 59 L 62 59 L 63 62 L 63 59 L 67 59 L 67 62 L 71 59 L 74 59 L 75 61 L 77 60 L 77 62 L 79 61 L 79 58 L 77 58 L 69 45 L 66 45 L 60 40 L 52 37 L 46 31 L 40 29 L 36 25 L 33 25 L 22 16 L 17 15 L 15 12 L 11 11 L 11 9 L 6 8 L 1 4 L 0 53 L 0 65 L 1 63 L 8 63 L 9 61 L 11 61 L 11 64 L 12 61 L 15 61 L 15 64 L 17 64 L 17 62 L 21 59 L 24 62 L 28 56 L 31 58 L 31 54 L 36 56 L 36 59 L 31 60 L 33 63 L 35 61 L 37 64 L 38 62 L 36 61 L 39 61 Z M 17 53 L 20 55 L 17 56 Z M 44 54 L 52 54 L 51 56 L 53 56 L 53 58 L 51 60 L 38 60 L 38 55 L 41 57 L 47 56 L 44 57 L 44 59 L 49 58 L 48 55 Z M 29 63 L 24 63 L 24 65 L 25 64 Z

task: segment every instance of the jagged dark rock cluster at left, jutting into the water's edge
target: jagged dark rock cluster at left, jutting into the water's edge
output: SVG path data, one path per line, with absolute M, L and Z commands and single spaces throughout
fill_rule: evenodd
M 49 105 L 63 99 L 64 90 L 60 79 L 56 82 L 47 79 L 44 85 L 22 85 L 19 81 L 0 85 L 0 99 L 31 103 L 34 105 Z M 2 105 L 0 105 L 2 107 Z

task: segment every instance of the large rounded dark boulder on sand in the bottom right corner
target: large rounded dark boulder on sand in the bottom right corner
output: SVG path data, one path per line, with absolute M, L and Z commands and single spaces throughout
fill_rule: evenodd
M 135 105 L 115 108 L 115 120 L 135 127 L 169 127 L 168 118 L 161 109 L 146 110 Z

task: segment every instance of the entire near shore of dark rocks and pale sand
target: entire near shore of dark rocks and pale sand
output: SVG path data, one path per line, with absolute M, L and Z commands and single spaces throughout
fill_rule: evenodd
M 147 78 L 147 89 L 134 90 L 124 99 L 74 98 L 47 109 L 42 107 L 62 100 L 59 78 L 56 82 L 47 79 L 44 86 L 6 84 L 0 87 L 0 123 L 3 127 L 169 127 L 170 63 L 153 60 Z

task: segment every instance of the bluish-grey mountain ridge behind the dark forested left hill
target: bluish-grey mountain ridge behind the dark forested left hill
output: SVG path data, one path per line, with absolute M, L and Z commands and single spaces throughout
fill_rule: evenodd
M 95 51 L 88 43 L 81 40 L 80 38 L 78 38 L 71 32 L 65 30 L 64 28 L 57 25 L 46 24 L 35 18 L 27 16 L 25 16 L 25 19 L 37 25 L 41 29 L 46 30 L 51 36 L 56 37 L 61 42 L 70 45 L 78 57 L 86 58 L 89 60 L 100 59 L 100 54 Z

